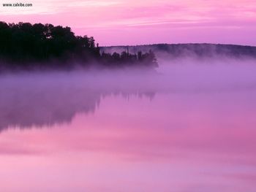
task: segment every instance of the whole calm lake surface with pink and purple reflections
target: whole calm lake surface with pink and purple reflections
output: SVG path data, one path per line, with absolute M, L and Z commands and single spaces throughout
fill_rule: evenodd
M 255 72 L 4 75 L 0 191 L 255 192 Z

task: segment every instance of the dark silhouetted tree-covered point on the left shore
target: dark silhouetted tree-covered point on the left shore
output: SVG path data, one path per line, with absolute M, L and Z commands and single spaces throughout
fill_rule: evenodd
M 157 66 L 154 53 L 100 53 L 94 37 L 75 36 L 71 28 L 42 23 L 0 22 L 0 65 L 64 67 L 80 64 L 102 66 Z

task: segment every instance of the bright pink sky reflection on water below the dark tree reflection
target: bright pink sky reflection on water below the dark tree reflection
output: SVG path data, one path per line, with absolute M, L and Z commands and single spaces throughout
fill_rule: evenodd
M 106 96 L 70 124 L 10 128 L 0 134 L 1 191 L 254 192 L 255 96 Z

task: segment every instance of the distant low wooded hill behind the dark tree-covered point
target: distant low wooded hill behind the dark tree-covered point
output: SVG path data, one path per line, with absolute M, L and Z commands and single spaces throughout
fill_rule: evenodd
M 137 50 L 152 50 L 158 56 L 164 54 L 169 58 L 189 57 L 217 57 L 227 56 L 231 58 L 256 58 L 256 46 L 249 45 L 230 45 L 230 44 L 211 44 L 211 43 L 181 43 L 181 44 L 151 44 L 151 45 L 120 45 L 104 46 L 100 50 L 115 52 L 129 47 L 131 52 Z

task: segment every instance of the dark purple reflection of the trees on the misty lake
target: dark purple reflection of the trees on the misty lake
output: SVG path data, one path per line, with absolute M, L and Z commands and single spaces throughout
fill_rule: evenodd
M 154 91 L 136 86 L 127 89 L 106 76 L 99 79 L 91 76 L 85 78 L 79 73 L 78 77 L 76 74 L 65 76 L 69 74 L 2 77 L 0 131 L 8 127 L 30 128 L 70 123 L 77 113 L 94 113 L 100 100 L 112 94 L 120 94 L 126 99 L 132 95 L 152 99 L 155 94 Z

